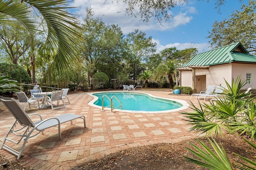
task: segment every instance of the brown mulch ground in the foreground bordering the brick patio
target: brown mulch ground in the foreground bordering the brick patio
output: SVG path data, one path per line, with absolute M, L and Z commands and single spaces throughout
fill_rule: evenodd
M 206 145 L 210 146 L 208 139 L 200 137 Z M 255 160 L 256 150 L 242 139 L 235 135 L 225 135 L 216 139 L 222 143 L 231 162 L 236 162 L 238 157 L 233 153 L 238 153 L 246 158 Z M 195 158 L 185 147 L 192 148 L 189 143 L 199 146 L 196 139 L 181 141 L 179 143 L 160 143 L 143 147 L 134 147 L 122 150 L 101 159 L 84 162 L 76 165 L 71 170 L 204 170 L 201 166 L 186 162 L 183 156 Z M 31 170 L 22 164 L 22 160 L 6 160 L 0 155 L 0 163 L 8 162 L 4 170 Z M 238 169 L 233 167 L 234 170 Z

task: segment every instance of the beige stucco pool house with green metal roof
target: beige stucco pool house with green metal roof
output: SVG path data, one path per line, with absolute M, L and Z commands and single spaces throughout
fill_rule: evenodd
M 225 80 L 231 83 L 238 74 L 248 80 L 245 89 L 256 89 L 256 56 L 240 42 L 199 53 L 178 70 L 180 86 L 190 86 L 194 93 L 205 91 L 208 85 L 225 85 Z

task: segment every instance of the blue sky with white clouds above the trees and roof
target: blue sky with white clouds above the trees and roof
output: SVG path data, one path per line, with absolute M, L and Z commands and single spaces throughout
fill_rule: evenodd
M 176 47 L 178 50 L 197 48 L 198 53 L 210 50 L 210 44 L 206 37 L 212 30 L 214 21 L 222 21 L 229 18 L 232 11 L 240 10 L 242 4 L 248 4 L 248 0 L 226 0 L 220 12 L 215 9 L 215 1 L 190 0 L 186 4 L 178 4 L 170 10 L 173 18 L 169 22 L 160 25 L 155 18 L 148 23 L 140 21 L 140 17 L 134 18 L 125 15 L 125 5 L 112 3 L 113 0 L 74 0 L 69 5 L 78 7 L 70 11 L 80 15 L 82 22 L 86 8 L 91 7 L 94 17 L 101 18 L 105 24 L 115 24 L 122 29 L 123 34 L 139 29 L 152 37 L 157 44 L 157 52 L 165 48 Z M 115 2 L 115 1 L 114 1 Z

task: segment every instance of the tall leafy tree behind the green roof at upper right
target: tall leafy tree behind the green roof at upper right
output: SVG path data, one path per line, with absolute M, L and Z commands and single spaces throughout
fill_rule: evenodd
M 232 12 L 229 19 L 213 23 L 207 37 L 212 48 L 241 42 L 249 52 L 256 53 L 256 1 L 249 0 L 241 10 Z

